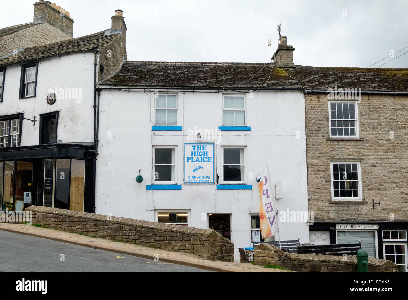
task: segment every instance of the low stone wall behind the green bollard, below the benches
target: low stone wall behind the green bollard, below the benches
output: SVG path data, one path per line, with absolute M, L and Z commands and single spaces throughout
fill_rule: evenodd
M 357 256 L 316 255 L 288 253 L 271 244 L 259 244 L 254 248 L 255 264 L 277 264 L 279 267 L 298 272 L 357 272 Z M 399 271 L 390 260 L 368 258 L 369 272 Z

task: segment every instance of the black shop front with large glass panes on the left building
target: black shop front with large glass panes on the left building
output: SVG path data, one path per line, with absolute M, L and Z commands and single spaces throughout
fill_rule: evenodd
M 84 144 L 0 149 L 1 209 L 30 205 L 95 211 L 95 151 Z

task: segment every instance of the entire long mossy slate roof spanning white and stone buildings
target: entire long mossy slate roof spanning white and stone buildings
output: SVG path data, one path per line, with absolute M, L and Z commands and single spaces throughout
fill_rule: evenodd
M 408 92 L 408 69 L 296 65 L 295 69 L 282 70 L 276 66 L 272 69 L 271 63 L 126 61 L 118 73 L 102 84 L 125 87 L 321 91 L 334 89 L 337 85 L 337 88 L 355 88 L 362 91 Z

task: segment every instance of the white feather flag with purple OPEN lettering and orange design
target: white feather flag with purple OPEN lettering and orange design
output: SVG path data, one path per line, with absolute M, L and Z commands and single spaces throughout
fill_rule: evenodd
M 261 203 L 259 207 L 259 225 L 261 227 L 262 237 L 269 238 L 274 236 L 278 231 L 276 205 L 273 196 L 273 184 L 271 184 L 271 176 L 269 168 L 266 166 L 257 177 L 259 195 Z M 262 197 L 264 196 L 264 197 Z M 262 199 L 263 198 L 263 199 Z

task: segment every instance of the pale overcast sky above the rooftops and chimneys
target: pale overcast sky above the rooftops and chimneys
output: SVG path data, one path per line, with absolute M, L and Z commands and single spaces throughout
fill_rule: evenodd
M 34 0 L 3 1 L 0 28 L 32 22 Z M 111 28 L 122 9 L 129 60 L 268 62 L 277 25 L 295 64 L 368 67 L 408 47 L 408 1 L 58 0 L 74 37 Z M 17 9 L 18 8 L 18 9 Z M 395 53 L 394 57 L 408 51 Z M 382 68 L 408 68 L 408 53 Z

